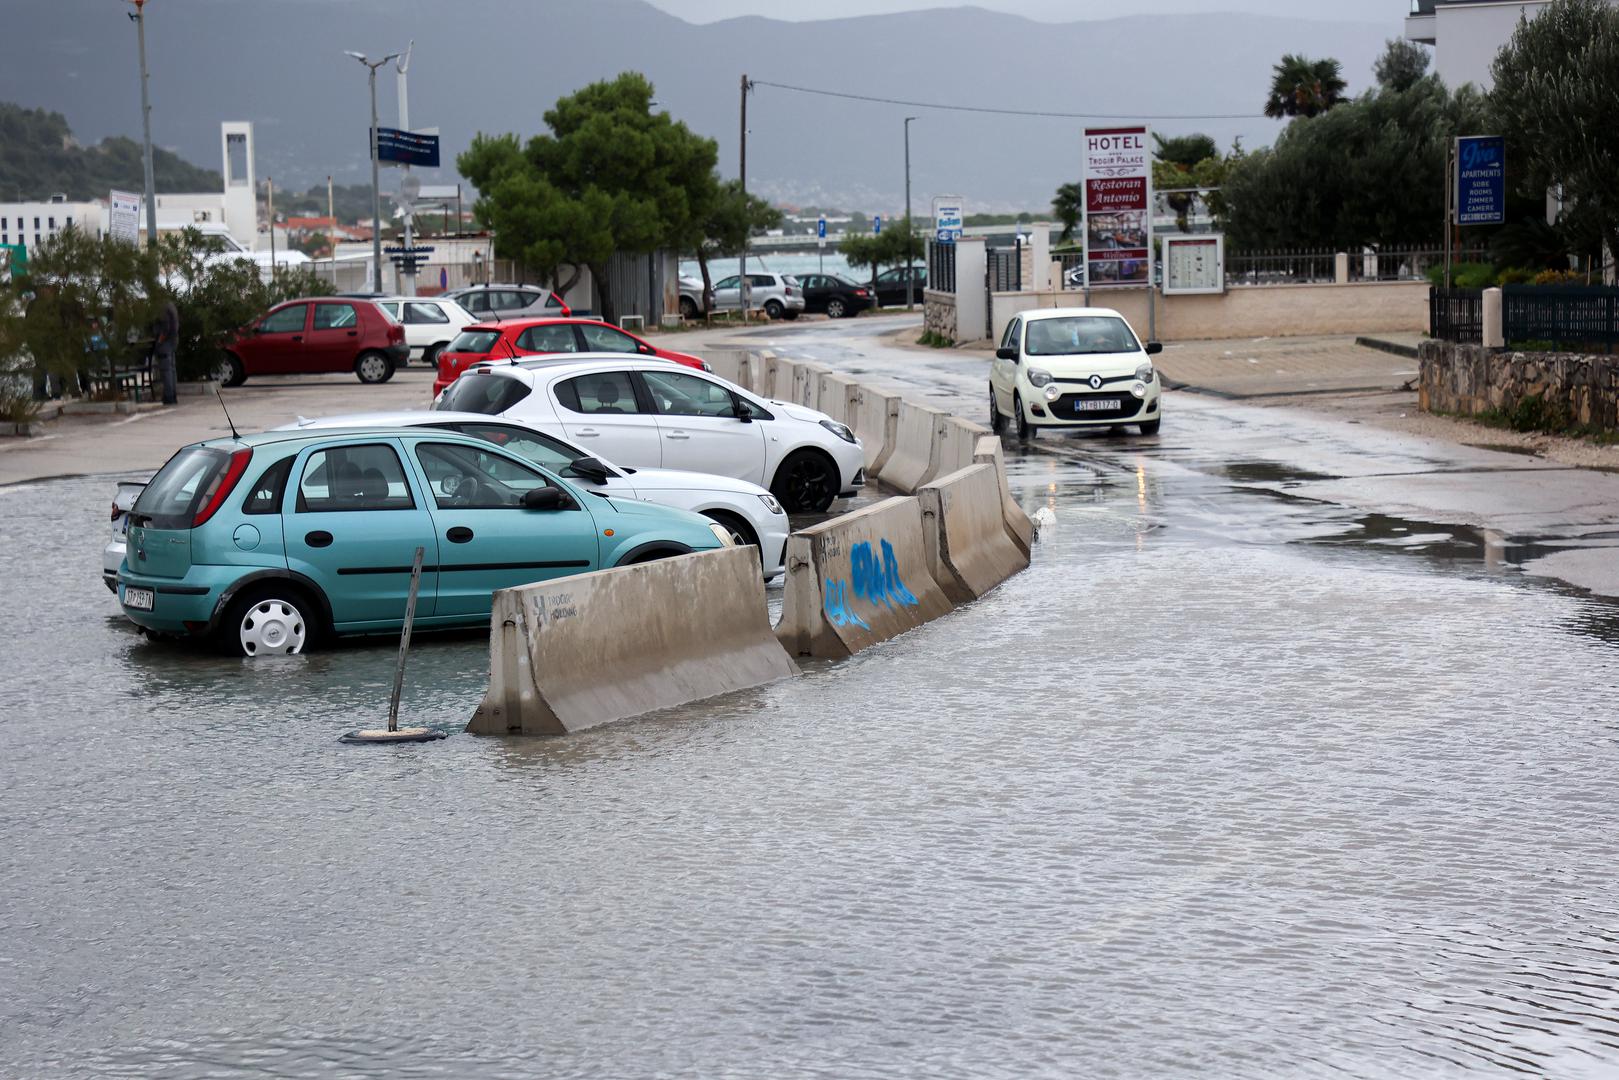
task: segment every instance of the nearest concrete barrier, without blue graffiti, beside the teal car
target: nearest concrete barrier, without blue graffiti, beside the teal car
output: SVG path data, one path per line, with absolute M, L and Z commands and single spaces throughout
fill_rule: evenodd
M 474 735 L 565 735 L 798 672 L 771 631 L 751 547 L 494 594 Z

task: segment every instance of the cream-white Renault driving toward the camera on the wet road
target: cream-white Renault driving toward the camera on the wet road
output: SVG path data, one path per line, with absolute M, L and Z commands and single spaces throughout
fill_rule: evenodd
M 1149 356 L 1159 351 L 1112 308 L 1025 311 L 1007 324 L 989 368 L 989 426 L 1002 432 L 1010 418 L 1018 439 L 1115 424 L 1158 434 L 1164 382 Z

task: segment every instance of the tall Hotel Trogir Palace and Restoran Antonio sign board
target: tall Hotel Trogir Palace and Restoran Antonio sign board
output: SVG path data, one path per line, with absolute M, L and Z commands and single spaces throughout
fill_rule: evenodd
M 1148 130 L 1085 130 L 1085 283 L 1153 280 L 1153 154 Z

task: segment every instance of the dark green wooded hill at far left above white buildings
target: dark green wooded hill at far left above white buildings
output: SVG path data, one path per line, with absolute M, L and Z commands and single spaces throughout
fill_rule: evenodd
M 144 188 L 138 141 L 120 136 L 79 146 L 57 112 L 0 102 L 0 146 L 5 146 L 0 199 L 42 202 L 58 193 L 70 199 L 105 199 L 113 188 Z M 152 172 L 159 191 L 219 191 L 223 185 L 217 172 L 164 149 L 152 151 Z

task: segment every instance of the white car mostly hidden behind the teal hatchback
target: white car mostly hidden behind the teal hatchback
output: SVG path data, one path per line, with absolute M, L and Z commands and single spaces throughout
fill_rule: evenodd
M 776 495 L 758 484 L 714 476 L 709 473 L 682 473 L 677 470 L 622 468 L 606 458 L 546 434 L 521 419 L 491 418 L 482 413 L 398 411 L 398 413 L 350 413 L 346 416 L 300 416 L 293 424 L 277 431 L 304 431 L 312 427 L 444 427 L 463 436 L 486 439 L 505 447 L 572 479 L 588 491 L 612 499 L 640 499 L 678 510 L 691 510 L 725 526 L 738 546 L 759 549 L 766 576 L 782 570 L 787 554 L 787 534 L 792 526 Z M 121 557 L 121 555 L 120 555 Z

